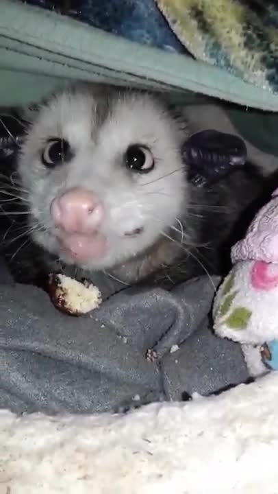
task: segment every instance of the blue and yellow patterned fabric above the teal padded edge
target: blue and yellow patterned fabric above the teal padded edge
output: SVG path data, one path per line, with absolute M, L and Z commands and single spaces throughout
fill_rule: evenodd
M 188 49 L 197 60 L 278 91 L 278 8 L 273 1 L 69 0 L 64 9 L 62 1 L 27 3 L 58 11 L 62 5 L 64 13 L 138 43 L 181 54 Z

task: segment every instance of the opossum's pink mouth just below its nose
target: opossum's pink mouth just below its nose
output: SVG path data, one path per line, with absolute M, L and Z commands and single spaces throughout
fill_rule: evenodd
M 80 263 L 101 259 L 107 252 L 107 239 L 101 233 L 64 233 L 59 236 L 58 242 L 62 254 Z

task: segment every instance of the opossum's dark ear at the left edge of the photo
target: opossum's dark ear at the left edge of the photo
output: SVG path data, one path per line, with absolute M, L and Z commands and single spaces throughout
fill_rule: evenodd
M 0 160 L 12 161 L 23 141 L 26 124 L 14 113 L 0 113 Z

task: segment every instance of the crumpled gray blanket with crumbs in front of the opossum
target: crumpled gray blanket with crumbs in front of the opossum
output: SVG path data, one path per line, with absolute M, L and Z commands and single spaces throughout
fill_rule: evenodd
M 38 288 L 14 284 L 3 263 L 0 269 L 0 408 L 116 412 L 207 395 L 249 377 L 240 346 L 210 331 L 214 289 L 207 277 L 170 292 L 118 292 L 99 278 L 104 303 L 75 318 Z M 148 349 L 157 353 L 154 362 Z

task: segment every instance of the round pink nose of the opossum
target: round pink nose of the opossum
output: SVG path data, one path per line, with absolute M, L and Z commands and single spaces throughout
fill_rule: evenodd
M 103 205 L 94 193 L 82 187 L 68 189 L 53 199 L 50 207 L 55 226 L 67 233 L 94 233 L 103 220 Z

